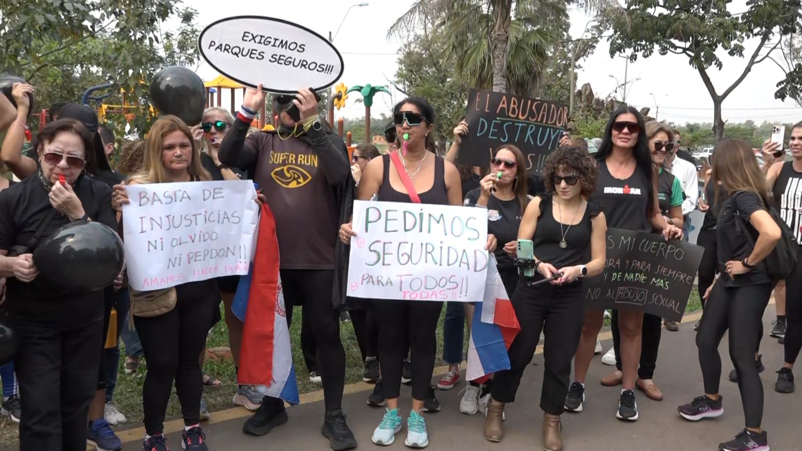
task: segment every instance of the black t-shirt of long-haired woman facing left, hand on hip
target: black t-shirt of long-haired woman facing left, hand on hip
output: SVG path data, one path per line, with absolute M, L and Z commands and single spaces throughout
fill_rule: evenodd
M 749 223 L 752 213 L 765 210 L 763 201 L 755 193 L 739 192 L 721 202 L 716 234 L 719 243 L 718 262 L 724 286 L 747 286 L 770 283 L 766 263 L 759 262 L 746 274 L 735 276 L 735 280 L 727 275 L 727 262 L 742 261 L 755 249 L 758 232 Z M 738 222 L 740 221 L 740 224 Z M 746 234 L 750 234 L 747 236 Z

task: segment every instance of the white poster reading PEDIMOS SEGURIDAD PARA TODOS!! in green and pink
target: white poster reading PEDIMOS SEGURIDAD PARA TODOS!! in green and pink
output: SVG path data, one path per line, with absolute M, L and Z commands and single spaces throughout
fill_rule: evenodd
M 354 201 L 348 295 L 482 302 L 488 210 Z

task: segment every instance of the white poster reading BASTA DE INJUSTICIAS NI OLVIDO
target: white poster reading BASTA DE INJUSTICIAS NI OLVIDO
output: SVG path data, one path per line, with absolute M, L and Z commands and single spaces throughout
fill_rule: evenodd
M 252 181 L 128 185 L 128 283 L 152 291 L 248 274 L 259 205 Z

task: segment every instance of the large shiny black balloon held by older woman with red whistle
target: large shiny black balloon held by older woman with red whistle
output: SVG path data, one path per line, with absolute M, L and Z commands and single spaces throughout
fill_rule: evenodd
M 56 230 L 34 250 L 34 266 L 69 291 L 111 285 L 125 263 L 123 240 L 99 222 L 75 221 Z

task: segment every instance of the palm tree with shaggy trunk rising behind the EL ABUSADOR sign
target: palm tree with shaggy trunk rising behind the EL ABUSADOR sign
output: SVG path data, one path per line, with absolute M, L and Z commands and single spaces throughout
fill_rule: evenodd
M 472 87 L 533 96 L 565 33 L 565 0 L 416 0 L 388 35 L 444 33 L 456 71 Z M 600 15 L 626 14 L 617 0 L 580 0 Z M 431 28 L 431 30 L 429 30 Z

